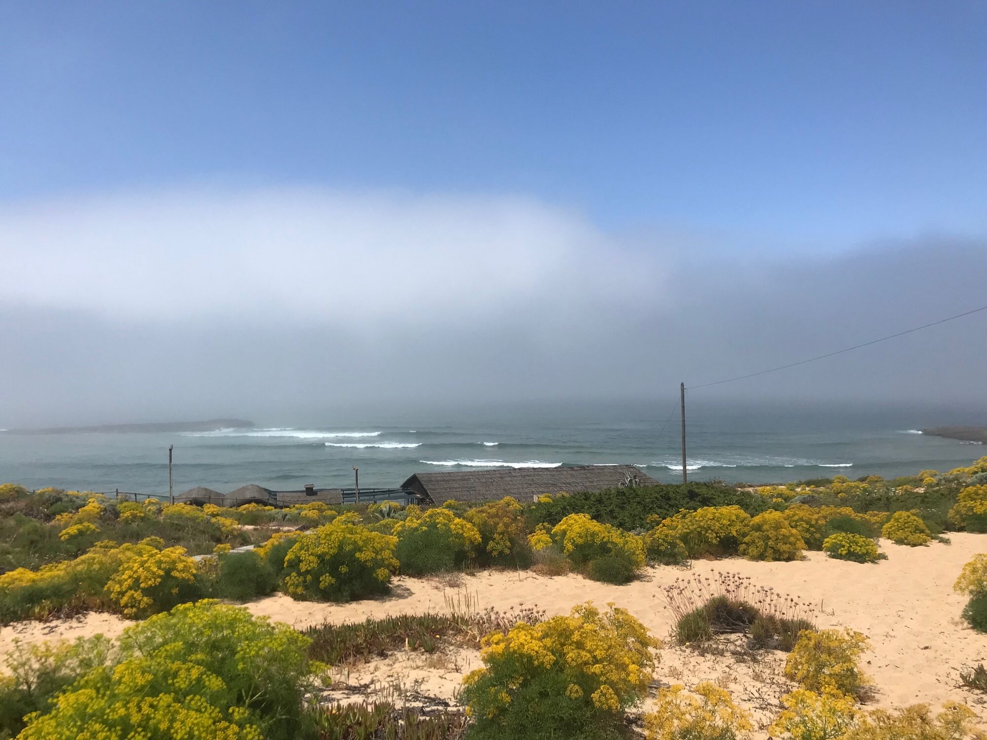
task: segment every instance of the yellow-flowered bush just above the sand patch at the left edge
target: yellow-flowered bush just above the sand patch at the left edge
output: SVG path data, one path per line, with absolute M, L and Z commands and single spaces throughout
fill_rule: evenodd
M 198 595 L 197 569 L 185 548 L 154 550 L 124 562 L 107 592 L 128 617 L 164 611 Z

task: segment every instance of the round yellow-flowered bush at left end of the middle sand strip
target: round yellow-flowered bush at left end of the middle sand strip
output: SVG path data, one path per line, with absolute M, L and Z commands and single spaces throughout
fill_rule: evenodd
M 335 521 L 306 532 L 284 556 L 289 596 L 348 601 L 387 593 L 397 538 Z

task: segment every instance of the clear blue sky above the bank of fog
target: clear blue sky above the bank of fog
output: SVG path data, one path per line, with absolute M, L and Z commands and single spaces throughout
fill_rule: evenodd
M 987 229 L 980 2 L 0 6 L 0 202 L 520 194 L 807 252 Z

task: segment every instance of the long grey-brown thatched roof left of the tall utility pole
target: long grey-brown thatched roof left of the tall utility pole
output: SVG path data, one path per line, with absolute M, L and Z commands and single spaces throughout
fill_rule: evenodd
M 450 498 L 457 501 L 491 501 L 513 496 L 530 501 L 542 493 L 602 490 L 624 485 L 627 476 L 642 485 L 655 485 L 633 465 L 581 465 L 569 468 L 521 468 L 486 471 L 449 471 L 417 473 L 401 484 L 432 503 Z

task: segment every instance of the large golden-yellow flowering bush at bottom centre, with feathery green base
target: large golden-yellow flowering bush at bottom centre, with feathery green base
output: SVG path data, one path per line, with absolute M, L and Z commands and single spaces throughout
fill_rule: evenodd
M 600 737 L 645 697 L 658 643 L 626 610 L 591 604 L 483 640 L 484 668 L 463 679 L 477 738 Z M 474 735 L 471 735 L 473 737 Z

